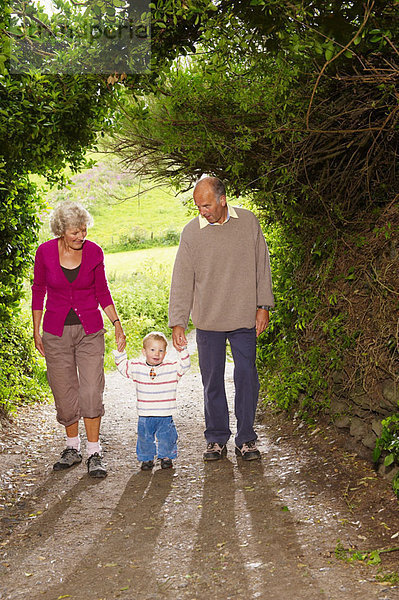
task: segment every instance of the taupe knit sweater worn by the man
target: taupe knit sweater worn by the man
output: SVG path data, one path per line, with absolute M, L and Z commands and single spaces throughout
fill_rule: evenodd
M 256 307 L 274 306 L 269 252 L 255 215 L 200 229 L 190 221 L 181 234 L 173 269 L 169 326 L 232 331 L 255 326 Z

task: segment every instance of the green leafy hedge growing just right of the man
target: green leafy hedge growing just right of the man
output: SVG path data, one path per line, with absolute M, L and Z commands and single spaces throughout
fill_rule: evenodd
M 258 341 L 263 394 L 267 403 L 297 407 L 311 418 L 328 406 L 331 374 L 342 367 L 342 350 L 351 345 L 345 315 L 325 306 L 328 270 L 307 258 L 309 246 L 299 246 L 281 227 L 268 226 L 266 237 L 277 310 Z

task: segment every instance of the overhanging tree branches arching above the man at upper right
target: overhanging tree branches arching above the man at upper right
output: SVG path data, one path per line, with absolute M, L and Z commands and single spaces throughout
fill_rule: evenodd
M 182 188 L 213 173 L 276 217 L 290 203 L 290 218 L 345 218 L 384 202 L 398 183 L 398 3 L 215 8 L 162 93 L 130 97 L 126 164 Z

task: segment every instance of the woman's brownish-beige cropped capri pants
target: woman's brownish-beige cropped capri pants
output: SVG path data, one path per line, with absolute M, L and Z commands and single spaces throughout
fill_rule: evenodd
M 47 379 L 61 425 L 104 414 L 104 332 L 87 335 L 82 325 L 66 325 L 61 337 L 43 332 Z

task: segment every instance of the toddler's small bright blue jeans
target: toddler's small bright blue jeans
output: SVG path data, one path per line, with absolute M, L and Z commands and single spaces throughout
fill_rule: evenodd
M 139 417 L 137 458 L 140 462 L 177 457 L 177 431 L 173 417 Z M 157 444 L 158 442 L 158 452 Z

